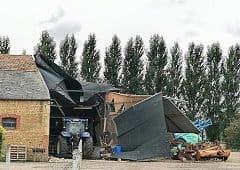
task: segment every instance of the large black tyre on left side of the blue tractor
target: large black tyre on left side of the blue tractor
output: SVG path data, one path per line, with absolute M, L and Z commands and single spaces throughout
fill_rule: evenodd
M 67 139 L 63 136 L 58 136 L 58 142 L 57 142 L 57 157 L 59 158 L 67 158 L 71 155 L 69 153 L 69 148 L 67 145 Z

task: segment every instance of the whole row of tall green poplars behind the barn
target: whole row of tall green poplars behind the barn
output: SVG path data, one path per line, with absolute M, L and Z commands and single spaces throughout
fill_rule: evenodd
M 239 44 L 230 46 L 224 56 L 218 42 L 207 46 L 206 53 L 202 44 L 191 42 L 183 54 L 178 42 L 168 50 L 164 38 L 154 34 L 149 40 L 149 49 L 145 50 L 142 38 L 137 35 L 131 37 L 122 50 L 120 39 L 114 35 L 105 49 L 102 67 L 96 43 L 95 34 L 90 34 L 79 63 L 76 39 L 74 35 L 66 35 L 59 46 L 60 63 L 57 64 L 74 78 L 110 83 L 122 87 L 125 93 L 161 92 L 182 99 L 186 102 L 179 107 L 189 119 L 212 119 L 213 125 L 207 128 L 210 140 L 232 141 L 229 135 L 240 107 Z M 9 51 L 9 38 L 0 37 L 0 53 Z M 42 32 L 34 54 L 55 62 L 56 42 L 47 31 Z M 102 68 L 103 79 L 99 75 Z

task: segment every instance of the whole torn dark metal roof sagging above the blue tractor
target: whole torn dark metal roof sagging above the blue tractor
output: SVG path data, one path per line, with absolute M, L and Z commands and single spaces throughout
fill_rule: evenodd
M 77 81 L 63 71 L 57 64 L 35 56 L 36 64 L 48 86 L 53 99 L 61 105 L 98 105 L 102 100 L 101 94 L 109 91 L 119 91 L 109 84 L 97 84 Z

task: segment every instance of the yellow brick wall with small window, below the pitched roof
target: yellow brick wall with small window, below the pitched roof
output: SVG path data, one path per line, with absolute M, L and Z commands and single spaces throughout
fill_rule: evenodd
M 28 160 L 48 159 L 49 144 L 49 101 L 0 100 L 0 125 L 2 118 L 16 118 L 16 129 L 7 130 L 4 143 L 25 145 L 28 149 Z M 40 153 L 33 152 L 34 148 L 44 148 Z M 39 150 L 39 149 L 38 149 Z

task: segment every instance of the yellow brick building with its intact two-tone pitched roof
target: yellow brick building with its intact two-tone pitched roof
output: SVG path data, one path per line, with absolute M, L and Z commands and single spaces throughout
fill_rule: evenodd
M 25 145 L 28 160 L 43 148 L 48 159 L 50 95 L 29 55 L 0 55 L 0 125 L 5 144 Z

